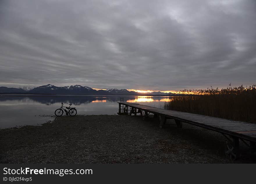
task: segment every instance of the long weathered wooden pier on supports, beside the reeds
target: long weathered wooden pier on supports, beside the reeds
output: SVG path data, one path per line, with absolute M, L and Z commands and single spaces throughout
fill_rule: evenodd
M 221 133 L 227 138 L 225 154 L 231 160 L 235 160 L 240 156 L 239 140 L 245 143 L 252 152 L 256 150 L 256 124 L 192 114 L 188 112 L 165 110 L 138 103 L 118 103 L 118 114 L 139 114 L 143 119 L 145 119 L 151 113 L 155 118 L 159 118 L 160 128 L 165 127 L 166 119 L 174 119 L 178 128 L 182 128 L 182 122 L 184 122 Z

